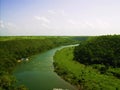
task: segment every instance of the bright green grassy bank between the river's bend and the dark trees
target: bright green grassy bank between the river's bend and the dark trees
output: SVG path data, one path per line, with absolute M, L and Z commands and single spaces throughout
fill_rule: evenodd
M 78 90 L 119 90 L 120 79 L 101 74 L 92 66 L 73 60 L 74 47 L 59 50 L 54 55 L 55 72 Z

